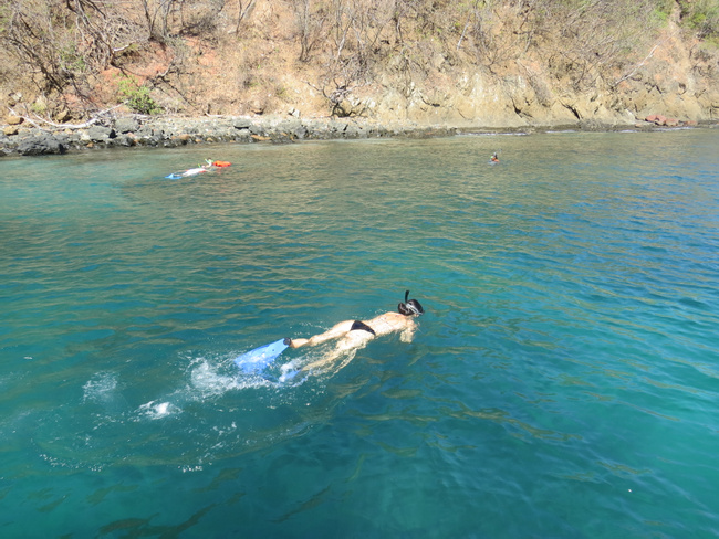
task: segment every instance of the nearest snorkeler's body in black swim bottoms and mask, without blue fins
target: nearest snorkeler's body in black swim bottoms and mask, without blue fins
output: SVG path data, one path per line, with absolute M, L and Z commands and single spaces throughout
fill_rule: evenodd
M 425 309 L 417 299 L 407 300 L 408 297 L 409 290 L 405 292 L 405 302 L 397 305 L 397 313 L 385 313 L 367 321 L 341 321 L 330 330 L 310 337 L 309 339 L 285 339 L 284 342 L 291 348 L 300 348 L 340 339 L 336 347 L 324 358 L 303 367 L 302 370 L 305 371 L 327 364 L 350 350 L 362 348 L 368 341 L 381 335 L 399 332 L 399 340 L 403 342 L 411 342 L 415 330 L 417 329 L 416 318 Z

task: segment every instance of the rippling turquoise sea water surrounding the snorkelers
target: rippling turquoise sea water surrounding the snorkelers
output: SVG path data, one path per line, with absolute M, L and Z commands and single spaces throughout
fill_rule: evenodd
M 0 160 L 0 535 L 717 537 L 718 147 Z M 206 157 L 233 166 L 163 178 Z M 233 368 L 407 288 L 411 344 L 284 384 Z

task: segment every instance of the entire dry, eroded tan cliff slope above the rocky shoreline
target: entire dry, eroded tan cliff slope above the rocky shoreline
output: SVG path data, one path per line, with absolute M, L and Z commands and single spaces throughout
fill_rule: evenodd
M 719 53 L 675 2 L 659 20 L 652 0 L 143 0 L 111 14 L 76 0 L 62 28 L 72 2 L 54 2 L 58 17 L 23 2 L 37 35 L 6 24 L 6 43 L 37 54 L 6 49 L 0 86 L 8 117 L 38 125 L 107 109 L 487 127 L 719 118 Z M 148 11 L 160 6 L 174 11 Z M 75 38 L 53 49 L 42 35 L 59 28 Z

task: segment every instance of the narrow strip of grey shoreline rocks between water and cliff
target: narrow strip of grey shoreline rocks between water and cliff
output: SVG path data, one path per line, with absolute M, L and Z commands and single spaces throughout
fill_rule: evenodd
M 125 116 L 88 121 L 83 125 L 49 125 L 22 117 L 9 117 L 0 133 L 0 157 L 42 156 L 87 151 L 97 148 L 175 148 L 216 142 L 274 142 L 301 140 L 431 138 L 459 134 L 532 133 L 549 129 L 617 130 L 689 127 L 697 123 L 667 120 L 652 116 L 631 125 L 582 121 L 563 126 L 510 128 L 423 126 L 411 123 L 381 125 L 355 119 L 304 119 L 268 117 L 153 117 Z

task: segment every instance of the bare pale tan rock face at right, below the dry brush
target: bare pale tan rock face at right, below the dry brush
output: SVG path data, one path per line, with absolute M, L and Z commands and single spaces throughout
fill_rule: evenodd
M 670 124 L 717 121 L 719 61 L 696 45 L 669 24 L 646 56 L 617 72 L 612 84 L 597 78 L 584 89 L 543 75 L 548 70 L 539 62 L 490 74 L 456 70 L 439 59 L 429 82 L 413 83 L 403 93 L 402 81 L 385 76 L 381 87 L 355 96 L 347 109 L 384 121 L 486 127 L 615 126 L 655 115 Z

